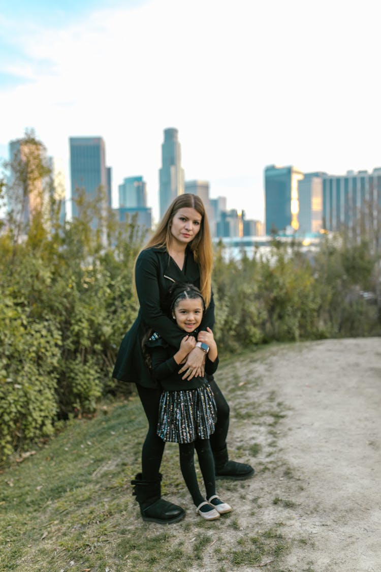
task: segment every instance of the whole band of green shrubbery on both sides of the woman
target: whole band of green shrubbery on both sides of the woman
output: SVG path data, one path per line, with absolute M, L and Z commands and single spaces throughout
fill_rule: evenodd
M 58 419 L 92 414 L 101 396 L 130 391 L 110 375 L 138 311 L 133 267 L 144 237 L 111 212 L 101 237 L 91 228 L 101 217 L 97 200 L 78 200 L 81 220 L 61 226 L 52 200 L 48 220 L 37 213 L 21 228 L 10 217 L 0 235 L 0 462 L 51 435 Z M 326 239 L 311 260 L 296 241 L 260 252 L 229 260 L 216 249 L 221 353 L 380 334 L 380 259 L 366 241 Z

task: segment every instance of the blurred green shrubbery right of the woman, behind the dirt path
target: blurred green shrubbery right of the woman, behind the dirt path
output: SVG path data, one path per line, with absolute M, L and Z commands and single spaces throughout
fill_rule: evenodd
M 216 335 L 221 349 L 252 343 L 379 335 L 380 257 L 366 241 L 322 240 L 312 256 L 294 241 L 267 256 L 215 257 Z

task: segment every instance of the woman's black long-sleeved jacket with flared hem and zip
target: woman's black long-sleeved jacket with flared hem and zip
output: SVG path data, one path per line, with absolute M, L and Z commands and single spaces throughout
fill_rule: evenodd
M 151 376 L 142 354 L 142 339 L 147 330 L 159 332 L 172 347 L 179 348 L 184 332 L 165 311 L 168 291 L 174 282 L 192 283 L 200 287 L 199 266 L 190 248 L 186 249 L 180 269 L 165 248 L 147 248 L 137 259 L 135 283 L 140 309 L 138 317 L 122 340 L 113 371 L 113 378 L 143 387 L 159 387 Z M 214 325 L 214 300 L 204 312 L 199 329 Z

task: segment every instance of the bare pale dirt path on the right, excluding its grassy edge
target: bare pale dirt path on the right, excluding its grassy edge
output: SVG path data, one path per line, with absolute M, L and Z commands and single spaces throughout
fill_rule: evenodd
M 258 522 L 280 516 L 286 537 L 299 538 L 284 564 L 295 572 L 381 572 L 381 338 L 282 346 L 254 358 L 250 374 L 262 382 L 246 399 L 271 389 L 286 412 L 276 426 L 278 470 L 246 485 L 264 499 Z M 266 502 L 269 487 L 280 515 Z M 243 515 L 242 530 L 250 526 Z

